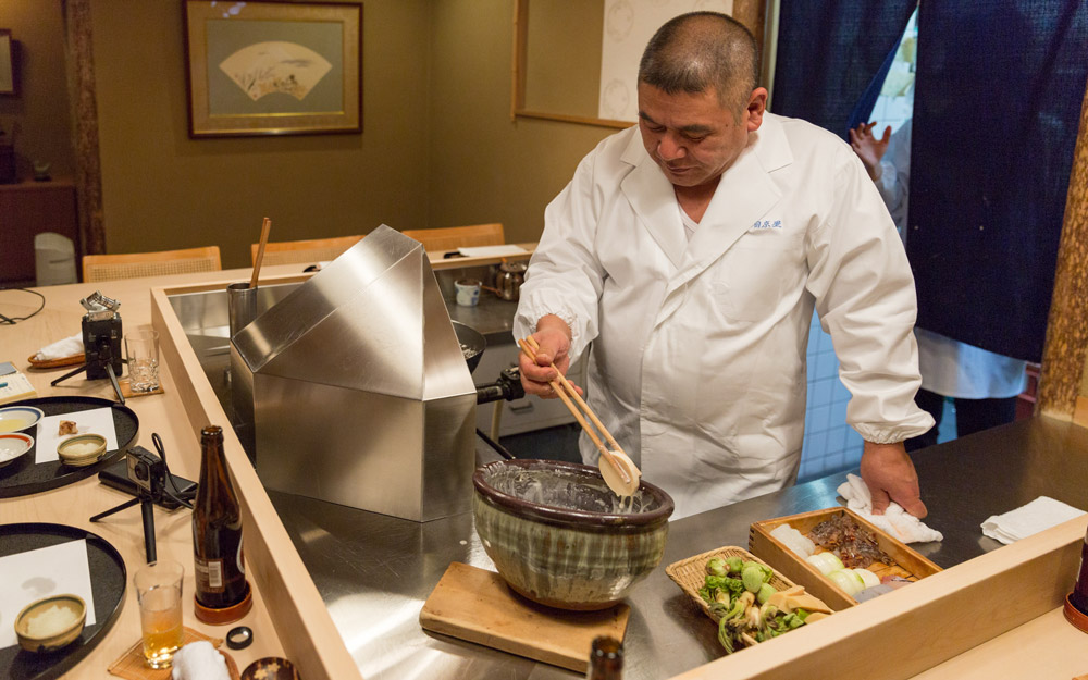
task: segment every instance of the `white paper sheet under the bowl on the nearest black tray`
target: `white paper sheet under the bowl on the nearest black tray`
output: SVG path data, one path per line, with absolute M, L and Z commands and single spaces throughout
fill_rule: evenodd
M 0 557 L 0 650 L 18 644 L 15 617 L 49 595 L 73 594 L 87 603 L 87 626 L 95 625 L 87 542 L 69 541 Z

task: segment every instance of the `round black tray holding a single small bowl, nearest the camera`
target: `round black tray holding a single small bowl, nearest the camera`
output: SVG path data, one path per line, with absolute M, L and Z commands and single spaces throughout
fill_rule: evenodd
M 98 534 L 64 524 L 0 524 L 0 557 L 83 539 L 87 541 L 95 625 L 84 627 L 78 640 L 57 652 L 37 654 L 27 652 L 18 644 L 0 650 L 0 679 L 49 680 L 71 670 L 116 621 L 124 604 L 127 581 L 121 554 Z M 104 668 L 100 670 L 106 671 Z

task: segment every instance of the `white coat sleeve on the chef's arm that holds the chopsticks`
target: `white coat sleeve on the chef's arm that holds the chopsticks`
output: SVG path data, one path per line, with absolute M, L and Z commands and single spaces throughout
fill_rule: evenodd
M 570 326 L 571 357 L 581 355 L 597 335 L 605 279 L 594 244 L 599 219 L 594 156 L 579 163 L 570 184 L 544 211 L 544 234 L 529 262 L 514 320 L 518 338 L 533 333 L 542 317 L 559 317 Z

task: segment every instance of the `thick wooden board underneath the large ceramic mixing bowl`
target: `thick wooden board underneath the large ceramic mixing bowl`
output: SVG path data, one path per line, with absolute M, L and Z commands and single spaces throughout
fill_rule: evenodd
M 419 613 L 424 630 L 585 672 L 597 635 L 623 640 L 631 607 L 565 611 L 521 597 L 494 571 L 450 562 Z

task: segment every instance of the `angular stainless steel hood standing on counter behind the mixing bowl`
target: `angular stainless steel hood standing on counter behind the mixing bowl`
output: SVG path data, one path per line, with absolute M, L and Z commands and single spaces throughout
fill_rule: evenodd
M 418 242 L 378 227 L 238 331 L 231 366 L 267 486 L 416 521 L 470 508 L 475 388 Z

